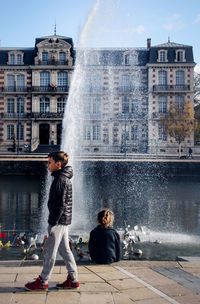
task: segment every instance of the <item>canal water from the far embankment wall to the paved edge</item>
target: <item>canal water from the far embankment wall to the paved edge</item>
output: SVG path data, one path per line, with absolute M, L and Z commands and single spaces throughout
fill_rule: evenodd
M 43 191 L 44 177 L 0 176 L 0 240 L 3 244 L 8 239 L 12 243 L 20 232 L 40 233 Z M 122 250 L 125 259 L 137 259 L 135 249 L 143 251 L 140 258 L 150 260 L 200 255 L 198 177 L 85 175 L 81 184 L 78 180 L 74 184 L 71 235 L 87 238 L 102 208 L 114 212 L 114 228 L 122 238 L 127 227 L 137 236 L 135 244 Z M 25 258 L 23 247 L 15 244 L 0 247 L 1 260 L 21 258 Z

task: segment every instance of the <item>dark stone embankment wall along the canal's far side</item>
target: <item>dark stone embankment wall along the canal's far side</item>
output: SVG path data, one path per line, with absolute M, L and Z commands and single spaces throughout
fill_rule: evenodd
M 43 175 L 47 170 L 46 160 L 0 160 L 0 175 Z M 88 175 L 130 176 L 199 176 L 200 161 L 178 160 L 89 160 L 76 161 L 74 170 Z

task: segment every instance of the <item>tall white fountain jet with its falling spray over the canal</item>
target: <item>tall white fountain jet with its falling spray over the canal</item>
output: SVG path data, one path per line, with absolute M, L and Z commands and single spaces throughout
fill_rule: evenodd
M 108 2 L 112 3 L 106 1 L 106 3 Z M 83 232 L 88 233 L 96 224 L 95 216 L 97 211 L 100 208 L 108 207 L 111 208 L 116 215 L 115 227 L 119 230 L 124 229 L 127 225 L 130 225 L 132 229 L 137 224 L 142 227 L 147 225 L 151 230 L 151 234 L 145 237 L 143 233 L 142 237 L 144 241 L 150 241 L 158 245 L 161 242 L 174 244 L 177 243 L 177 241 L 179 244 L 194 244 L 198 239 L 197 234 L 199 228 L 197 228 L 197 230 L 191 229 L 192 235 L 189 236 L 190 231 L 185 231 L 182 223 L 176 222 L 176 218 L 173 218 L 173 198 L 169 197 L 167 192 L 169 181 L 166 177 L 166 172 L 163 174 L 163 171 L 158 171 L 156 175 L 152 175 L 154 173 L 153 170 L 151 171 L 151 168 L 139 171 L 137 168 L 133 169 L 133 167 L 131 167 L 132 165 L 130 165 L 129 170 L 126 171 L 123 169 L 125 167 L 122 166 L 121 176 L 119 176 L 116 170 L 113 170 L 114 166 L 108 163 L 104 163 L 104 168 L 101 168 L 101 172 L 99 171 L 95 176 L 85 175 L 85 171 L 82 170 L 81 158 L 89 154 L 88 151 L 86 151 L 83 138 L 84 136 L 90 137 L 92 135 L 92 129 L 88 131 L 89 129 L 87 129 L 87 127 L 91 127 L 90 124 L 92 120 L 100 121 L 98 115 L 94 116 L 94 114 L 99 114 L 99 105 L 95 105 L 97 113 L 90 113 L 93 115 L 91 119 L 91 116 L 88 116 L 88 109 L 91 110 L 91 107 L 94 107 L 94 105 L 91 105 L 90 102 L 87 103 L 89 93 L 91 95 L 91 93 L 96 93 L 99 90 L 102 94 L 101 87 L 98 86 L 98 79 L 94 77 L 96 76 L 97 70 L 100 79 L 105 76 L 104 73 L 106 70 L 106 79 L 108 82 L 107 89 L 103 92 L 106 102 L 104 103 L 104 116 L 101 116 L 101 123 L 104 125 L 104 129 L 106 129 L 108 121 L 114 118 L 113 105 L 116 92 L 114 88 L 115 65 L 113 64 L 112 56 L 109 55 L 109 58 L 108 55 L 106 55 L 107 57 L 105 56 L 103 69 L 98 69 L 98 66 L 94 65 L 94 61 L 96 59 L 98 61 L 98 58 L 100 58 L 102 54 L 99 45 L 97 45 L 98 48 L 95 48 L 95 43 L 97 41 L 99 42 L 100 39 L 101 43 L 104 43 L 102 40 L 102 27 L 101 31 L 95 30 L 98 29 L 97 23 L 100 16 L 102 17 L 103 8 L 107 12 L 109 11 L 108 4 L 103 4 L 105 4 L 105 1 L 98 0 L 95 2 L 80 34 L 76 49 L 76 65 L 63 119 L 61 149 L 69 153 L 70 165 L 74 168 L 74 210 L 70 228 L 71 232 L 77 235 Z M 98 36 L 98 33 L 100 36 Z M 88 47 L 91 46 L 91 43 L 93 43 L 92 47 Z M 134 53 L 134 50 L 132 50 L 132 52 L 133 57 L 136 58 L 135 55 L 137 52 Z M 93 54 L 97 57 L 93 57 Z M 112 54 L 112 52 L 109 54 Z M 94 65 L 93 69 L 91 68 L 91 63 Z M 137 60 L 135 60 L 135 70 L 132 70 L 131 75 L 132 79 L 134 79 L 134 90 L 132 90 L 131 96 L 140 101 L 147 98 L 147 96 L 146 88 L 144 88 L 142 93 L 139 89 L 141 74 L 137 68 L 137 63 Z M 95 78 L 94 86 L 90 86 L 92 78 Z M 137 108 L 137 112 L 138 115 L 141 114 L 140 107 Z M 144 113 L 140 119 L 147 120 L 146 114 L 147 113 Z M 129 119 L 124 116 L 124 120 L 121 119 L 121 124 L 119 121 L 115 121 L 115 123 L 116 125 L 114 125 L 114 127 L 116 127 L 117 130 L 121 129 L 121 131 L 123 131 L 120 133 L 123 142 L 126 138 L 126 127 L 129 124 Z M 98 129 L 96 130 L 96 135 L 97 134 Z M 105 136 L 105 146 L 106 140 Z M 92 146 L 90 148 L 94 149 Z M 125 148 L 125 150 L 122 152 L 126 157 L 127 147 L 123 146 L 123 148 Z M 110 155 L 115 153 L 115 150 L 108 151 L 105 147 L 104 149 L 104 153 L 110 153 Z M 139 149 L 145 150 L 145 147 L 139 147 Z M 47 217 L 46 200 L 50 179 L 50 175 L 47 175 L 41 223 L 44 222 L 44 217 Z M 170 189 L 172 188 L 173 185 L 170 184 Z M 179 206 L 176 206 L 177 214 L 178 210 Z M 185 219 L 184 215 L 182 220 Z M 42 233 L 45 233 L 45 229 L 46 226 L 41 225 L 40 231 Z

